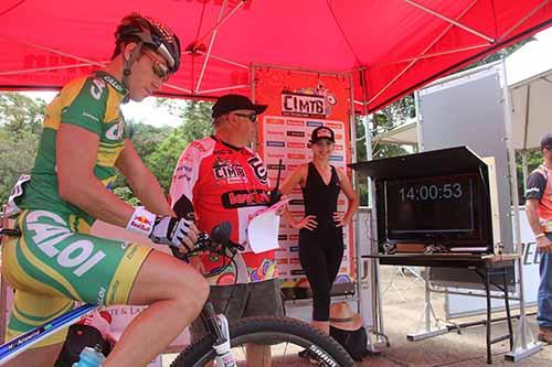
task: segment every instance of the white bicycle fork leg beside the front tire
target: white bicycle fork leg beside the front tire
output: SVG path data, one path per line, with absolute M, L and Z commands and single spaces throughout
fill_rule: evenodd
M 226 316 L 223 314 L 216 315 L 213 305 L 209 302 L 203 307 L 203 315 L 212 335 L 215 336 L 213 349 L 216 354 L 216 367 L 237 367 L 237 363 L 230 350 L 230 328 Z

